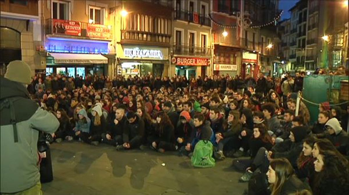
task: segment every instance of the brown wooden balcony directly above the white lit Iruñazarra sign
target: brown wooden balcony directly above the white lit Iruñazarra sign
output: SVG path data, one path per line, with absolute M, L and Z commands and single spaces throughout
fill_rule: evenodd
M 171 34 L 160 34 L 145 31 L 122 30 L 121 44 L 156 44 L 157 46 L 169 47 Z

